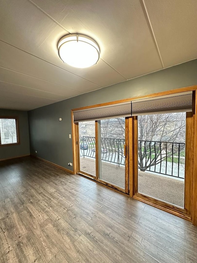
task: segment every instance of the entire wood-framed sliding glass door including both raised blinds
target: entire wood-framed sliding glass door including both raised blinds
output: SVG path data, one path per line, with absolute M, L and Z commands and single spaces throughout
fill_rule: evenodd
M 166 92 L 73 110 L 74 172 L 191 220 L 195 96 Z

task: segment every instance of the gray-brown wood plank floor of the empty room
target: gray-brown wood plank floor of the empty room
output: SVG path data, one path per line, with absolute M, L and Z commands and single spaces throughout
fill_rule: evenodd
M 0 162 L 0 262 L 197 262 L 190 222 L 35 158 Z

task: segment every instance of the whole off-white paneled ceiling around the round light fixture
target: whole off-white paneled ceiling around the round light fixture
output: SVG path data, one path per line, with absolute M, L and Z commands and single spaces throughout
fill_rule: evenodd
M 197 58 L 196 0 L 1 0 L 0 108 L 30 110 Z M 100 47 L 90 68 L 64 64 L 58 40 Z

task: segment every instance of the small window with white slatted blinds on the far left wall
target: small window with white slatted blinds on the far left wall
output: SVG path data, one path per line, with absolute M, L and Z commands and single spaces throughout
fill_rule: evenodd
M 18 120 L 0 117 L 0 146 L 19 144 Z

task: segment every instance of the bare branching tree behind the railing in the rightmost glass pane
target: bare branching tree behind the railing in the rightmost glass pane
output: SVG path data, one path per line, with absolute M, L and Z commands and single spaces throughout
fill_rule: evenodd
M 141 171 L 166 161 L 184 150 L 185 113 L 138 117 L 138 165 Z

